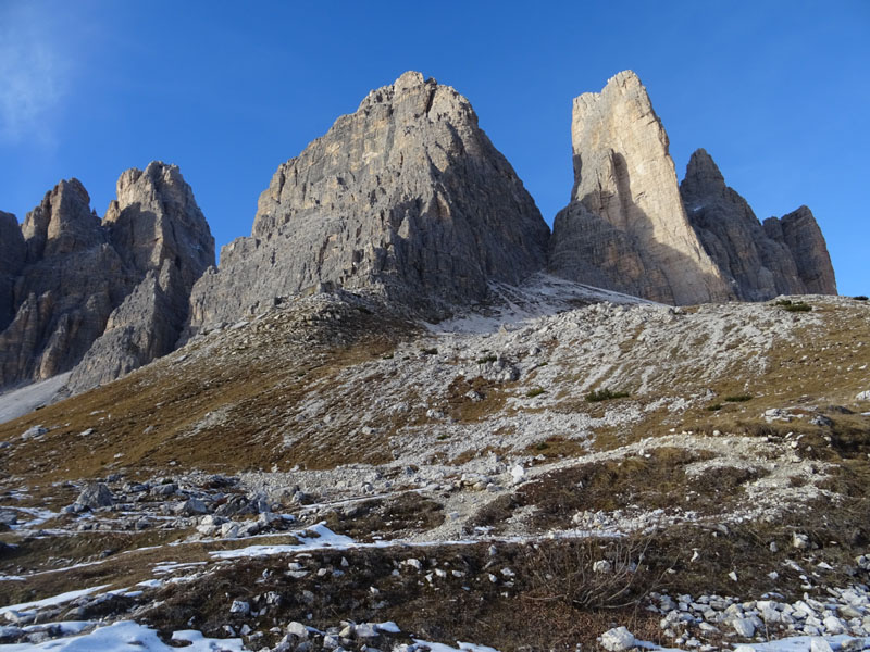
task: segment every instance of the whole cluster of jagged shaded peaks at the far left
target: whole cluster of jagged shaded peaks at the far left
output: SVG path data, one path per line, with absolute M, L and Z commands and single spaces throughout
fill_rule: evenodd
M 190 288 L 214 261 L 209 226 L 175 166 L 125 172 L 117 197 L 100 221 L 71 179 L 20 230 L 3 214 L 0 387 L 78 365 L 72 387 L 87 389 L 175 348 Z

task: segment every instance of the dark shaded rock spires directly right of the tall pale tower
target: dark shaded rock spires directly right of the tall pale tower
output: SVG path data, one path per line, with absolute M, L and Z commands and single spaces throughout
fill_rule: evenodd
M 738 299 L 836 293 L 824 239 L 805 206 L 762 226 L 703 149 L 692 154 L 680 193 L 705 251 Z

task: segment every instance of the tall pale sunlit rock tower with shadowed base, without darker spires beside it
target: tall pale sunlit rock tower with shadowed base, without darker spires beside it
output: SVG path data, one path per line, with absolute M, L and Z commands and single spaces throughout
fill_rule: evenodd
M 668 136 L 631 71 L 574 99 L 574 188 L 554 223 L 557 276 L 666 303 L 733 297 L 693 231 Z

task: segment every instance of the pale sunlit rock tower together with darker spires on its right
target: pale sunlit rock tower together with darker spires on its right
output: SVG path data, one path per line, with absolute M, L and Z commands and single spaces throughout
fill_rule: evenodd
M 554 274 L 671 304 L 836 293 L 809 209 L 762 226 L 703 149 L 678 186 L 668 135 L 631 71 L 574 100 L 571 131 L 574 188 L 554 222 Z

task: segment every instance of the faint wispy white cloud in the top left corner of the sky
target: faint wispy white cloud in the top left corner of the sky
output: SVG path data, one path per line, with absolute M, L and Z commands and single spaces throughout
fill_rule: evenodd
M 0 140 L 53 141 L 73 65 L 65 42 L 46 3 L 0 2 Z

